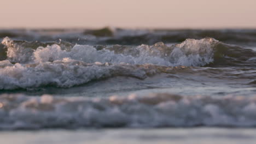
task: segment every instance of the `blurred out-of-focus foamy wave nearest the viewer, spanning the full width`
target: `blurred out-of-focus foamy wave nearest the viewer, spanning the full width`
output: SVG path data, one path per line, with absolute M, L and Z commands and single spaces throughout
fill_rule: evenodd
M 255 127 L 256 98 L 167 93 L 108 98 L 0 95 L 0 129 Z

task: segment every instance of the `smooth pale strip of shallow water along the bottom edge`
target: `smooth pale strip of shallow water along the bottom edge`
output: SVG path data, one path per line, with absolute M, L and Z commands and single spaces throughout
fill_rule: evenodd
M 255 143 L 254 129 L 89 129 L 2 131 L 4 143 Z M 15 137 L 15 139 L 13 139 Z

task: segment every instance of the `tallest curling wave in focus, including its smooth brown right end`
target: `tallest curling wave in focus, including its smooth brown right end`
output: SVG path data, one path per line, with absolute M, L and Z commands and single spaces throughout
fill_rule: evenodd
M 71 58 L 86 63 L 128 63 L 154 64 L 165 66 L 250 66 L 254 65 L 256 52 L 235 45 L 221 43 L 213 38 L 187 39 L 181 44 L 167 46 L 162 42 L 150 45 L 90 46 L 38 41 L 2 40 L 2 59 L 11 63 L 53 62 Z

